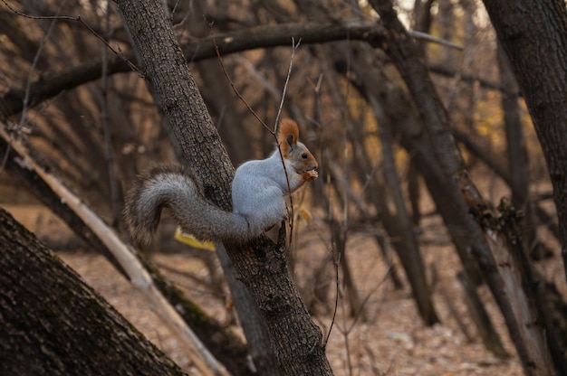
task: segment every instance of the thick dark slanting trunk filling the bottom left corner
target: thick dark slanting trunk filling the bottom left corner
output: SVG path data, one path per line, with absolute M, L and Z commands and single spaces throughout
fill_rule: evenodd
M 184 374 L 2 208 L 0 270 L 0 374 Z

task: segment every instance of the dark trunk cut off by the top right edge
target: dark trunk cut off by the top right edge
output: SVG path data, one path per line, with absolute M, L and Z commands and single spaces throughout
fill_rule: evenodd
M 524 94 L 553 183 L 567 268 L 567 10 L 562 0 L 485 0 Z

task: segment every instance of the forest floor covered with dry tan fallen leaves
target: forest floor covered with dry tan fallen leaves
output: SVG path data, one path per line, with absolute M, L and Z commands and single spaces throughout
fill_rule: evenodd
M 47 211 L 37 207 L 7 209 L 40 238 L 42 233 L 45 237 L 55 237 L 58 240 L 66 236 L 65 231 L 68 230 L 62 230 L 62 225 L 56 224 L 57 221 L 51 219 Z M 46 216 L 50 219 L 46 219 Z M 428 226 L 428 241 L 425 241 L 426 245 L 422 247 L 422 255 L 428 279 L 435 280 L 434 304 L 441 324 L 432 327 L 423 324 L 405 280 L 402 289 L 393 288 L 388 277 L 388 268 L 370 234 L 352 235 L 347 242 L 347 252 L 360 300 L 365 302 L 364 315 L 350 317 L 347 299 L 339 299 L 328 344 L 328 357 L 335 374 L 523 374 L 501 315 L 486 287 L 480 287 L 480 295 L 511 357 L 500 360 L 485 350 L 466 313 L 462 292 L 456 282 L 456 272 L 460 266 L 455 251 L 442 230 L 432 238 L 432 229 L 441 229 L 440 223 L 431 222 Z M 313 284 L 312 270 L 316 269 L 328 254 L 328 242 L 316 232 L 311 231 L 311 235 L 307 235 L 305 231 L 299 230 L 295 235 L 301 247 L 296 254 L 297 267 L 293 277 L 307 296 L 310 296 L 310 293 L 306 287 Z M 121 277 L 110 263 L 101 256 L 81 248 L 72 247 L 59 251 L 58 255 L 152 343 L 178 362 L 179 366 L 189 374 L 199 374 L 191 366 L 175 335 L 150 311 L 144 296 Z M 230 322 L 233 313 L 226 309 L 225 298 L 219 296 L 218 289 L 211 285 L 209 269 L 200 258 L 195 258 L 191 252 L 154 252 L 151 255 L 166 276 L 185 290 L 187 296 L 202 305 L 209 315 L 215 316 L 221 322 Z M 557 259 L 545 263 L 546 274 L 553 276 L 556 281 L 564 280 L 560 255 L 556 254 L 554 257 Z M 319 305 L 318 314 L 314 315 L 314 320 L 322 327 L 323 333 L 328 331 L 331 324 L 336 292 L 334 269 L 332 262 L 328 262 L 329 268 L 323 280 L 330 287 L 330 303 Z M 404 279 L 401 271 L 399 274 Z M 564 286 L 561 288 L 564 291 Z M 451 311 L 451 305 L 456 309 L 456 313 Z M 322 307 L 329 310 L 326 311 Z M 456 316 L 466 325 L 472 341 L 468 340 L 460 329 Z M 238 332 L 236 325 L 235 332 Z

